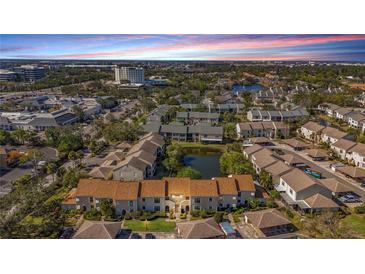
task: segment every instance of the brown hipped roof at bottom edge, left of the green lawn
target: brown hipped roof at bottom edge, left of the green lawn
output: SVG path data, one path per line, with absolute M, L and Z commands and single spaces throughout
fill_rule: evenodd
M 73 239 L 115 239 L 121 229 L 118 222 L 85 221 Z

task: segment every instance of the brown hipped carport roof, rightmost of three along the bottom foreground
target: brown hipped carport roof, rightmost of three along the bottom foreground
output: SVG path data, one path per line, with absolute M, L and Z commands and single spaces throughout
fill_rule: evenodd
M 259 229 L 290 224 L 290 221 L 284 218 L 277 209 L 246 212 L 245 216 L 253 226 Z

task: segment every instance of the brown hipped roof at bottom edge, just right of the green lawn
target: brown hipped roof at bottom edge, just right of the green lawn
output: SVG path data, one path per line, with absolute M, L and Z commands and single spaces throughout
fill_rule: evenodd
M 224 237 L 224 232 L 213 218 L 176 224 L 184 239 L 211 239 Z

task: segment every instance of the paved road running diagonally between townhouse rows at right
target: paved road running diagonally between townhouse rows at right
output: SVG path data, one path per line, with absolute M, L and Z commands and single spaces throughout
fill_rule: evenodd
M 276 148 L 281 149 L 285 153 L 296 154 L 298 157 L 303 159 L 303 162 L 306 165 L 308 165 L 310 168 L 322 173 L 322 176 L 324 178 L 337 179 L 339 182 L 346 185 L 351 191 L 353 191 L 356 194 L 358 194 L 359 196 L 361 196 L 362 200 L 365 200 L 365 191 L 363 188 L 361 188 L 359 183 L 356 183 L 354 180 L 352 180 L 350 178 L 346 178 L 344 175 L 342 175 L 338 172 L 332 171 L 329 167 L 330 163 L 332 163 L 332 162 L 330 162 L 330 161 L 323 161 L 323 162 L 313 161 L 309 156 L 307 156 L 305 154 L 305 151 L 295 151 L 287 145 L 279 144 L 279 143 L 275 143 L 275 142 L 274 142 L 274 144 L 276 145 Z

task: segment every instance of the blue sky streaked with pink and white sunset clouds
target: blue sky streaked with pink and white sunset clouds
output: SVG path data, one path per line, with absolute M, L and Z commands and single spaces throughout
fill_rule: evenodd
M 365 62 L 365 35 L 0 35 L 0 58 Z

